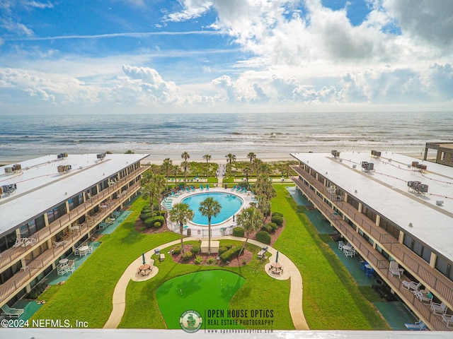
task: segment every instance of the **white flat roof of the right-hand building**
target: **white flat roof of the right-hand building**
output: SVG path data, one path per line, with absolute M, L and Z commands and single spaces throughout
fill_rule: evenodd
M 379 158 L 370 151 L 341 152 L 338 159 L 330 153 L 292 156 L 453 261 L 453 167 L 391 152 Z M 365 173 L 362 161 L 374 163 L 374 172 Z M 413 161 L 427 169 L 415 171 Z M 427 184 L 428 193 L 409 190 L 409 181 Z M 442 206 L 437 201 L 443 201 Z

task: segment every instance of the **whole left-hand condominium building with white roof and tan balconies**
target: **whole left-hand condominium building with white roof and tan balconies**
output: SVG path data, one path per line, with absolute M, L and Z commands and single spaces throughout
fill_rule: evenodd
M 47 155 L 0 167 L 0 307 L 138 194 L 146 154 Z

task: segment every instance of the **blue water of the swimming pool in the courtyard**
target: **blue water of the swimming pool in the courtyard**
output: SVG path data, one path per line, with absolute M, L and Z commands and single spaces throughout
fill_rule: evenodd
M 222 206 L 217 217 L 211 218 L 211 225 L 224 222 L 226 219 L 236 214 L 243 203 L 242 199 L 239 198 L 239 196 L 235 196 L 234 194 L 230 193 L 211 192 L 193 194 L 192 196 L 188 196 L 187 198 L 184 198 L 182 202 L 187 203 L 190 206 L 190 209 L 193 210 L 194 215 L 192 221 L 195 222 L 195 224 L 207 225 L 207 217 L 201 215 L 198 208 L 200 208 L 200 202 L 210 196 L 219 201 L 220 206 Z

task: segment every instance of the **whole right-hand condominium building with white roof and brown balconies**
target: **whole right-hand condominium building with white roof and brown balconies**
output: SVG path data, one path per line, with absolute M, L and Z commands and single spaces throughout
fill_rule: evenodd
M 374 150 L 292 156 L 297 187 L 382 282 L 428 328 L 452 330 L 453 168 Z

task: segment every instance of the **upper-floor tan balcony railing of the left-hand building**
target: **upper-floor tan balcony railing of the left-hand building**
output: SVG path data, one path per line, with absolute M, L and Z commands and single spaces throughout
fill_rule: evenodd
M 45 242 L 47 239 L 49 239 L 49 237 L 52 237 L 61 230 L 64 230 L 65 227 L 68 227 L 72 222 L 81 218 L 81 216 L 86 215 L 89 210 L 98 206 L 98 204 L 104 201 L 106 198 L 112 196 L 115 191 L 121 189 L 122 186 L 127 184 L 127 182 L 130 182 L 131 179 L 137 177 L 137 175 L 142 174 L 146 169 L 147 167 L 139 167 L 134 172 L 127 174 L 127 176 L 120 179 L 120 181 L 116 182 L 113 186 L 109 186 L 95 196 L 92 196 L 84 203 L 81 203 L 79 206 L 71 210 L 69 213 L 62 215 L 61 218 L 58 218 L 54 222 L 51 222 L 49 226 L 44 227 L 38 232 L 32 234 L 30 238 L 35 239 L 36 244 Z M 10 265 L 17 258 L 26 255 L 31 248 L 32 247 L 30 246 L 18 246 L 12 247 L 11 249 L 7 249 L 6 251 L 2 252 L 0 256 L 0 270 L 5 266 Z

